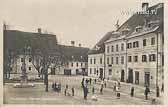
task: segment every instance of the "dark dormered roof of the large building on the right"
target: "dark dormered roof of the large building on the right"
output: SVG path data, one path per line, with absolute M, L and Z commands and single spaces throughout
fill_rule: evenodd
M 147 11 L 151 12 L 153 10 L 157 10 L 156 14 L 134 14 L 127 21 L 125 21 L 118 29 L 117 32 L 122 32 L 123 29 L 128 28 L 130 32 L 128 35 L 132 34 L 135 31 L 137 26 L 144 26 L 145 23 L 149 23 L 150 21 L 159 20 L 160 27 L 162 29 L 163 26 L 163 3 L 158 3 L 154 6 L 148 8 Z

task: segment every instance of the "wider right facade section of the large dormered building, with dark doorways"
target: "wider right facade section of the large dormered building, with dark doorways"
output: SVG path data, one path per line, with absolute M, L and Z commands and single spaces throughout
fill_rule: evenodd
M 162 42 L 161 34 L 149 33 L 127 38 L 127 78 L 129 71 L 133 71 L 133 83 L 150 86 L 156 85 L 157 46 L 158 46 L 158 79 L 162 78 Z M 138 45 L 137 45 L 138 44 Z M 137 74 L 139 72 L 139 74 Z M 138 82 L 136 82 L 138 81 Z M 159 83 L 161 84 L 161 83 Z

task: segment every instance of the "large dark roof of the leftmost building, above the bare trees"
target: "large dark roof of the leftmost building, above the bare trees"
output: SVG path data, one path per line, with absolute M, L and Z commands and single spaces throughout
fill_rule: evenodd
M 53 34 L 4 30 L 4 49 L 15 53 L 23 53 L 25 46 L 32 47 L 34 52 L 51 52 L 57 50 L 57 38 Z

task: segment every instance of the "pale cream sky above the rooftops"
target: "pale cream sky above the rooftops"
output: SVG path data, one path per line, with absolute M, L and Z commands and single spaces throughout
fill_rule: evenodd
M 0 0 L 0 18 L 9 29 L 53 33 L 58 42 L 92 48 L 115 24 L 141 10 L 146 0 Z M 162 2 L 162 0 L 160 0 Z M 160 2 L 148 0 L 149 6 Z

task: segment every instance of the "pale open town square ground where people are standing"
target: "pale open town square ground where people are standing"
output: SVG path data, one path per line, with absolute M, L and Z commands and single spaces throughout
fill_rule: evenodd
M 103 94 L 99 93 L 100 85 L 95 85 L 96 95 L 98 101 L 91 99 L 91 87 L 89 86 L 89 95 L 87 100 L 83 100 L 83 91 L 81 88 L 82 76 L 52 76 L 49 77 L 49 92 L 45 92 L 45 86 L 43 83 L 35 83 L 33 88 L 13 88 L 14 83 L 6 83 L 4 86 L 4 103 L 7 104 L 127 104 L 127 105 L 149 105 L 151 99 L 144 100 L 143 89 L 135 87 L 135 97 L 130 97 L 130 86 L 121 84 L 121 98 L 117 99 L 113 89 L 113 82 L 107 83 L 107 88 L 104 88 Z M 52 81 L 59 81 L 62 83 L 61 93 L 52 91 Z M 75 87 L 75 96 L 64 96 L 65 85 L 68 84 L 71 89 Z M 136 90 L 137 89 L 137 90 Z M 152 93 L 151 93 L 152 94 Z M 162 104 L 162 97 L 157 100 L 157 104 Z

